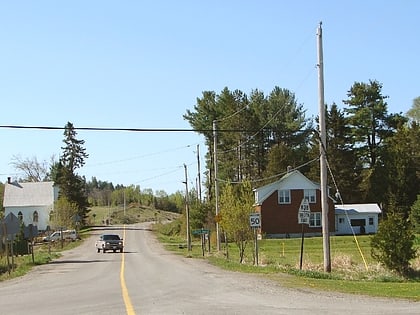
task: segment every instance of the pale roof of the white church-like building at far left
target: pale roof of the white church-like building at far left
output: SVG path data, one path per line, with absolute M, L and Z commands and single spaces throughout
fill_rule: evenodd
M 4 207 L 50 206 L 56 199 L 54 182 L 7 183 Z

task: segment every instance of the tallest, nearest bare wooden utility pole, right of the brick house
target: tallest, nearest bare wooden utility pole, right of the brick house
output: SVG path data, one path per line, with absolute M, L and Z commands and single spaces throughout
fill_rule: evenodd
M 319 151 L 321 171 L 321 211 L 322 211 L 322 244 L 324 249 L 324 271 L 331 272 L 330 231 L 328 226 L 328 190 L 327 190 L 327 131 L 325 124 L 324 103 L 324 61 L 322 51 L 322 22 L 318 31 L 318 95 L 319 95 Z

